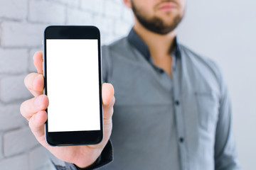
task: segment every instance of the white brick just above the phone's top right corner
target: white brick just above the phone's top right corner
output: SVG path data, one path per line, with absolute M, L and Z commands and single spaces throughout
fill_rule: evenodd
M 93 22 L 94 22 L 95 26 L 97 26 L 100 29 L 100 32 L 105 32 L 108 34 L 113 33 L 114 21 L 112 18 L 95 16 Z

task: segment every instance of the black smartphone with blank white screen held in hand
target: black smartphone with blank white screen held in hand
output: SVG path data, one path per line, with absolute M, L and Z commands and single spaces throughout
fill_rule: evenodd
M 51 146 L 102 141 L 100 30 L 95 26 L 48 26 L 44 31 L 46 142 Z

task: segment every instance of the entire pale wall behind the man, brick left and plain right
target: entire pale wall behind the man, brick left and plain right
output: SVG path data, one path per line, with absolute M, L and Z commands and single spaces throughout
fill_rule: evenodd
M 243 169 L 256 152 L 256 1 L 190 0 L 178 28 L 184 45 L 217 62 L 233 102 L 233 129 Z M 23 85 L 35 72 L 33 53 L 42 50 L 49 25 L 94 25 L 102 44 L 127 35 L 132 13 L 122 0 L 0 0 L 0 169 L 53 169 L 38 145 L 20 104 L 31 98 Z

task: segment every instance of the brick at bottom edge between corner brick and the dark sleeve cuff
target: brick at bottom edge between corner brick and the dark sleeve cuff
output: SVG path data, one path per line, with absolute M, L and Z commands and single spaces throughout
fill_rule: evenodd
M 40 146 L 36 147 L 29 153 L 30 168 L 39 169 L 49 163 L 48 151 Z

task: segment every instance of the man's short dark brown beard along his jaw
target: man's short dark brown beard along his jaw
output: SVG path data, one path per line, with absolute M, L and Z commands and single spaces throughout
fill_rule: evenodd
M 134 2 L 131 1 L 131 3 L 132 3 L 132 11 L 134 12 L 134 15 L 138 19 L 139 23 L 141 23 L 142 26 L 144 26 L 144 28 L 160 35 L 166 35 L 171 31 L 173 31 L 183 18 L 183 14 L 176 15 L 172 23 L 168 23 L 168 24 L 164 23 L 164 21 L 157 16 L 154 16 L 152 18 L 146 18 L 144 13 L 142 13 L 142 11 L 139 11 L 138 8 L 134 6 Z

